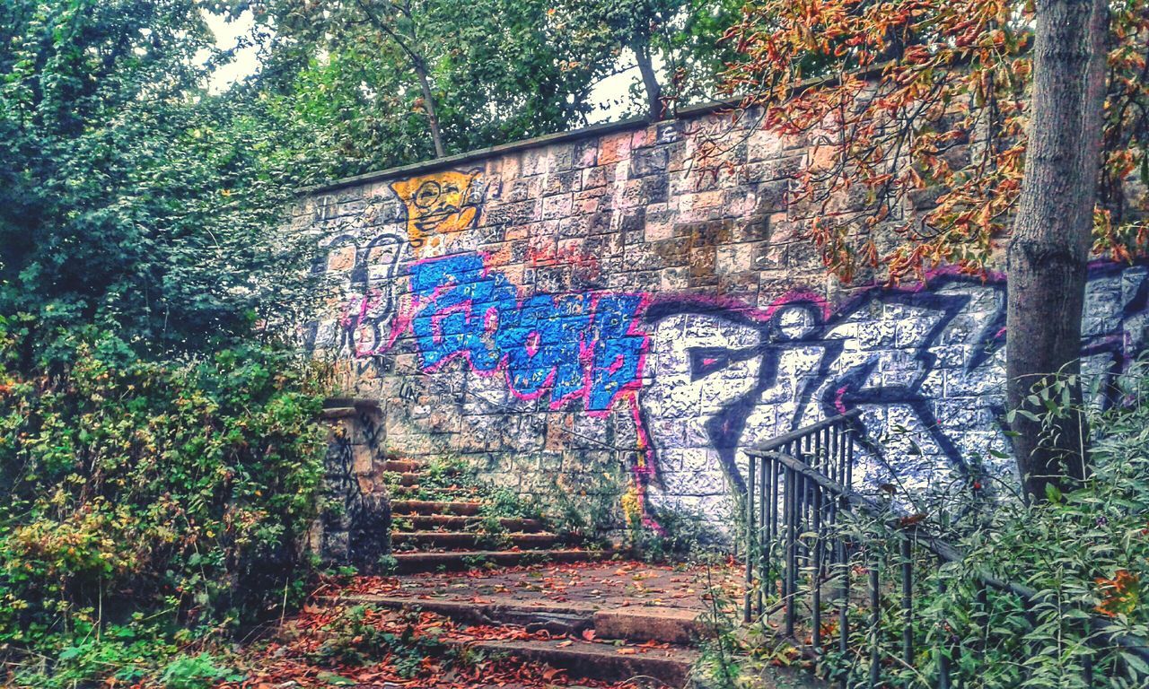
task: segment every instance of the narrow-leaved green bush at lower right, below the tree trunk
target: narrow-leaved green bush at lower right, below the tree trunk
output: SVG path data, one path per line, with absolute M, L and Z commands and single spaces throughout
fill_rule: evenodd
M 1042 394 L 1064 413 L 1058 390 Z M 1094 471 L 1077 489 L 1035 504 L 1002 504 L 962 540 L 966 556 L 939 574 L 948 582 L 934 611 L 956 638 L 958 672 L 979 687 L 1144 687 L 1149 665 L 1102 630 L 1149 638 L 1149 367 L 1138 363 L 1109 390 L 1118 404 L 1087 409 Z M 990 590 L 978 599 L 974 572 L 1034 589 Z M 987 632 L 988 629 L 988 632 Z M 988 649 L 988 650 L 982 650 Z M 978 660 L 980 658 L 980 660 Z M 998 661 L 986 665 L 985 659 Z M 1092 666 L 1093 681 L 1086 682 Z

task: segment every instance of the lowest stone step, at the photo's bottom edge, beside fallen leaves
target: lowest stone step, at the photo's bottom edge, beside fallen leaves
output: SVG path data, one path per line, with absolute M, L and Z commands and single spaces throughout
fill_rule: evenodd
M 479 641 L 469 643 L 468 648 L 545 663 L 565 669 L 571 678 L 607 682 L 649 678 L 673 689 L 686 686 L 691 666 L 699 659 L 699 652 L 693 649 L 615 647 L 558 638 Z

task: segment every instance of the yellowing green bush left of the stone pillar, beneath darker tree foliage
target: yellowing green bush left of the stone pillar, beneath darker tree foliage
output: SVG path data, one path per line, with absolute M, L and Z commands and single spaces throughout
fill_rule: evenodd
M 259 344 L 156 363 L 94 328 L 29 367 L 33 325 L 0 317 L 0 661 L 91 679 L 278 613 L 322 480 L 315 372 Z

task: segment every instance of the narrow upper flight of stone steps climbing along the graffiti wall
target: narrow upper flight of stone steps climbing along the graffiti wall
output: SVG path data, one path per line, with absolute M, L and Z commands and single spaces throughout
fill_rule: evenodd
M 460 465 L 396 457 L 383 470 L 391 494 L 390 565 L 396 574 L 592 562 L 614 555 L 546 531 L 542 516 L 525 508 L 500 513 L 492 489 Z

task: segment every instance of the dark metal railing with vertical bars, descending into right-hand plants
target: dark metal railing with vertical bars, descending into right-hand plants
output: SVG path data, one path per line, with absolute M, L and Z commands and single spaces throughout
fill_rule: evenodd
M 924 524 L 907 522 L 902 519 L 888 518 L 888 509 L 881 503 L 854 490 L 851 488 L 853 471 L 850 466 L 842 466 L 840 462 L 853 463 L 853 442 L 861 442 L 854 433 L 858 432 L 856 424 L 858 412 L 840 415 L 825 419 L 805 428 L 778 436 L 766 443 L 746 451 L 749 457 L 749 474 L 747 481 L 747 594 L 745 598 L 743 619 L 750 622 L 754 619 L 755 603 L 758 614 L 765 619 L 777 611 L 771 607 L 764 609 L 762 589 L 764 583 L 773 586 L 780 579 L 779 605 L 785 611 L 785 636 L 792 641 L 795 633 L 796 598 L 797 598 L 797 571 L 799 555 L 805 560 L 807 570 L 812 567 L 812 583 L 810 586 L 811 607 L 811 640 L 810 649 L 820 652 L 820 616 L 822 616 L 822 589 L 831 581 L 828 572 L 836 565 L 848 563 L 848 550 L 853 544 L 847 544 L 842 539 L 838 539 L 827 547 L 827 540 L 823 535 L 832 529 L 840 517 L 845 513 L 865 514 L 871 518 L 882 519 L 892 527 L 896 534 L 901 550 L 901 598 L 902 614 L 904 619 L 902 638 L 902 660 L 909 666 L 915 663 L 913 653 L 913 557 L 912 547 L 923 547 L 938 558 L 939 563 L 956 563 L 965 559 L 966 555 L 950 543 L 930 534 Z M 785 448 L 787 451 L 779 451 Z M 812 456 L 817 465 L 803 460 L 802 456 Z M 757 466 L 756 466 L 757 465 Z M 826 473 L 822 470 L 825 467 Z M 827 475 L 831 474 L 831 475 Z M 839 480 L 841 479 L 841 480 Z M 755 495 L 757 488 L 757 495 Z M 757 498 L 757 500 L 756 500 Z M 755 510 L 755 504 L 758 510 Z M 815 533 L 812 542 L 803 541 L 800 534 Z M 778 541 L 782 543 L 779 545 Z M 757 555 L 757 557 L 755 557 Z M 782 564 L 776 566 L 774 562 L 781 556 Z M 828 567 L 826 560 L 828 558 Z M 870 620 L 870 634 L 878 638 L 880 591 L 878 581 L 879 566 L 871 563 L 869 566 L 870 578 L 870 602 L 873 612 Z M 992 573 L 978 568 L 972 573 L 974 580 L 982 587 L 979 599 L 985 599 L 987 589 L 995 589 L 1017 596 L 1028 607 L 1041 601 L 1038 590 L 1024 585 L 1000 579 Z M 755 579 L 758 580 L 757 599 L 751 593 Z M 849 636 L 847 607 L 849 601 L 849 574 L 841 576 L 836 581 L 836 597 L 840 601 L 839 616 L 839 645 L 842 652 L 848 650 L 847 640 Z M 1119 647 L 1124 652 L 1132 653 L 1141 660 L 1149 663 L 1149 643 L 1144 640 L 1126 633 L 1117 625 L 1111 624 L 1093 613 L 1092 602 L 1075 601 L 1070 605 L 1085 612 L 1087 628 L 1092 641 L 1100 641 L 1111 647 Z M 802 645 L 797 644 L 796 645 Z M 950 687 L 949 658 L 940 652 L 938 656 L 939 678 L 938 686 L 948 689 Z M 871 686 L 880 678 L 878 644 L 873 644 L 870 658 Z M 1087 668 L 1087 672 L 1092 672 Z M 843 680 L 845 682 L 845 680 Z

